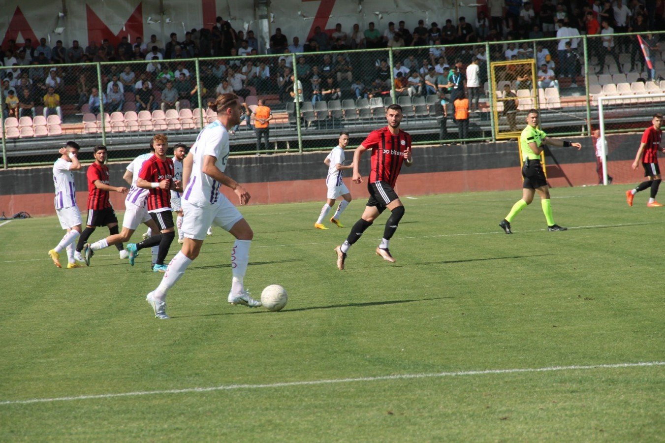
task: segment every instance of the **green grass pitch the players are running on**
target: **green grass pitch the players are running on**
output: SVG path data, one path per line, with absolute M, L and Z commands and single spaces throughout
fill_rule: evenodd
M 0 440 L 664 441 L 665 208 L 623 192 L 555 189 L 571 229 L 545 231 L 536 200 L 513 235 L 497 223 L 519 191 L 403 196 L 397 263 L 374 254 L 384 214 L 345 271 L 348 229 L 313 228 L 323 200 L 248 206 L 245 284 L 283 285 L 287 307 L 227 304 L 233 241 L 216 229 L 169 321 L 144 300 L 149 251 L 57 269 L 55 217 L 7 223 Z

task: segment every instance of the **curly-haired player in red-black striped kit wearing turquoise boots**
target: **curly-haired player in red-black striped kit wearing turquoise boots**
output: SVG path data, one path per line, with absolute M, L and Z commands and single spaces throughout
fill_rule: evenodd
M 146 247 L 159 245 L 157 261 L 152 270 L 154 272 L 165 272 L 164 259 L 166 259 L 171 243 L 176 237 L 173 210 L 171 208 L 171 191 L 178 190 L 182 192 L 182 187 L 180 180 L 174 180 L 173 160 L 166 156 L 168 138 L 164 134 L 156 134 L 152 138 L 152 146 L 155 154 L 141 166 L 136 187 L 148 190 L 146 198 L 148 214 L 157 223 L 160 233 L 140 243 L 129 243 L 127 251 L 129 252 L 130 265 L 133 266 L 138 251 Z

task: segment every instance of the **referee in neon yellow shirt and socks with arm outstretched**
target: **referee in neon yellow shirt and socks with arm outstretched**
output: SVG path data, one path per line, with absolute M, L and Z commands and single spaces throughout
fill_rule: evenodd
M 538 191 L 543 213 L 545 213 L 545 220 L 547 220 L 547 230 L 565 231 L 568 229 L 554 222 L 552 206 L 549 200 L 549 185 L 547 184 L 547 178 L 545 178 L 545 172 L 543 172 L 540 154 L 543 152 L 543 143 L 553 144 L 554 146 L 573 146 L 573 148 L 577 148 L 578 150 L 582 148 L 582 145 L 577 142 L 569 142 L 547 136 L 543 130 L 538 128 L 539 122 L 540 115 L 538 110 L 529 110 L 527 114 L 527 127 L 522 130 L 522 134 L 519 136 L 519 146 L 522 150 L 522 158 L 524 160 L 522 167 L 522 177 L 524 178 L 522 182 L 522 198 L 513 205 L 513 208 L 505 216 L 505 219 L 499 223 L 499 226 L 501 226 L 505 233 L 513 233 L 510 223 L 521 210 L 533 202 L 533 196 L 536 191 Z

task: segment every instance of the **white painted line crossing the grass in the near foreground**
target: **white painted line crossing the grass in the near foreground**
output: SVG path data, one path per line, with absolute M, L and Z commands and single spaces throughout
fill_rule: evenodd
M 54 398 L 30 398 L 28 400 L 3 400 L 0 405 L 9 404 L 29 404 L 29 403 L 49 403 L 49 402 L 65 402 L 73 400 L 91 400 L 96 398 L 117 398 L 117 397 L 130 397 L 130 396 L 144 396 L 156 394 L 186 394 L 188 392 L 211 392 L 215 390 L 237 390 L 237 389 L 265 389 L 265 388 L 289 388 L 291 386 L 315 386 L 318 384 L 343 384 L 353 382 L 375 382 L 382 380 L 410 380 L 413 378 L 442 378 L 450 376 L 465 376 L 465 375 L 487 375 L 487 374 L 518 374 L 523 372 L 552 372 L 559 370 L 584 370 L 584 369 L 616 369 L 616 368 L 633 368 L 633 367 L 655 367 L 665 365 L 665 361 L 652 361 L 642 363 L 616 363 L 613 365 L 589 365 L 589 366 L 553 366 L 546 368 L 530 368 L 530 369 L 486 369 L 486 370 L 461 370 L 458 372 L 433 372 L 425 374 L 395 374 L 383 375 L 374 377 L 358 377 L 358 378 L 332 378 L 328 380 L 309 380 L 309 381 L 295 381 L 295 382 L 281 382 L 281 383 L 266 383 L 266 384 L 223 384 L 221 386 L 209 386 L 207 388 L 184 388 L 184 389 L 167 389 L 167 390 L 139 390 L 134 392 L 120 392 L 117 394 L 96 394 L 96 395 L 78 395 L 69 397 L 54 397 Z

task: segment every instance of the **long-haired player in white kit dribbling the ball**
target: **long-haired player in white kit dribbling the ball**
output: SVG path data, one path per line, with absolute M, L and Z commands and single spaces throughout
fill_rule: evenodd
M 240 122 L 242 101 L 235 94 L 221 94 L 215 102 L 209 102 L 208 107 L 217 113 L 217 120 L 199 132 L 190 154 L 183 162 L 185 191 L 182 198 L 182 231 L 185 240 L 180 252 L 168 264 L 160 285 L 146 297 L 158 319 L 170 318 L 166 315 L 166 294 L 198 257 L 211 224 L 229 231 L 236 239 L 231 249 L 233 280 L 229 303 L 261 306 L 260 301 L 249 297 L 244 287 L 249 245 L 254 233 L 235 206 L 219 192 L 221 185 L 227 186 L 238 196 L 241 205 L 249 202 L 249 192 L 224 174 L 230 152 L 229 129 Z

